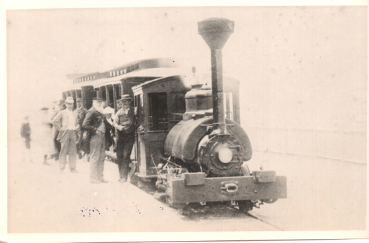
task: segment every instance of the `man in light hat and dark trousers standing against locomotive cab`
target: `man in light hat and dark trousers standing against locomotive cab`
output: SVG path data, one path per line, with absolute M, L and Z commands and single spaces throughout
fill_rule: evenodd
M 127 181 L 131 162 L 130 154 L 135 142 L 135 110 L 130 106 L 131 101 L 129 94 L 122 96 L 122 108 L 118 110 L 114 120 L 114 127 L 117 130 L 117 164 L 121 183 Z

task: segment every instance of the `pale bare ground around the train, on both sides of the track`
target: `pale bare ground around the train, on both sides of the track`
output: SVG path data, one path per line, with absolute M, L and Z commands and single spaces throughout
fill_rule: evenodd
M 277 231 L 271 225 L 221 209 L 184 217 L 129 183 L 119 183 L 117 165 L 105 161 L 109 183 L 89 183 L 89 163 L 68 167 L 8 162 L 8 233 Z M 366 228 L 366 165 L 273 153 L 255 153 L 250 170 L 275 169 L 287 176 L 287 199 L 251 214 L 284 231 L 352 231 Z

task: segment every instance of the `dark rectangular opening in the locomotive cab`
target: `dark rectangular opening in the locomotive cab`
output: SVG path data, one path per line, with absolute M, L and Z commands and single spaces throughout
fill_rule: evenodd
M 166 106 L 166 93 L 148 94 L 150 103 L 149 129 L 151 131 L 168 130 L 168 109 Z

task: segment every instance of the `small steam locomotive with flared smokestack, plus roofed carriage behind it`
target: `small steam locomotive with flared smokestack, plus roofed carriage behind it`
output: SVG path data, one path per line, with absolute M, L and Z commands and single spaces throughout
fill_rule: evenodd
M 198 33 L 211 49 L 212 87 L 188 87 L 173 61 L 148 59 L 103 73 L 72 77 L 63 92 L 81 97 L 89 109 L 96 92 L 117 111 L 122 94 L 134 97 L 139 128 L 131 183 L 155 186 L 157 199 L 185 209 L 237 206 L 248 212 L 263 203 L 286 198 L 286 177 L 275 171 L 252 171 L 248 135 L 239 119 L 239 81 L 225 78 L 222 49 L 234 22 L 212 18 L 198 22 Z

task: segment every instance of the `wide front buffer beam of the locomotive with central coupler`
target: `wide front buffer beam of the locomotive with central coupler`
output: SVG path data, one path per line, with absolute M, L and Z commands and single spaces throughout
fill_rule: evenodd
M 256 173 L 255 173 L 256 172 Z M 181 177 L 168 176 L 166 195 L 174 204 L 285 199 L 286 176 L 275 176 L 274 171 L 254 171 L 253 176 L 205 178 L 204 173 L 184 173 Z

